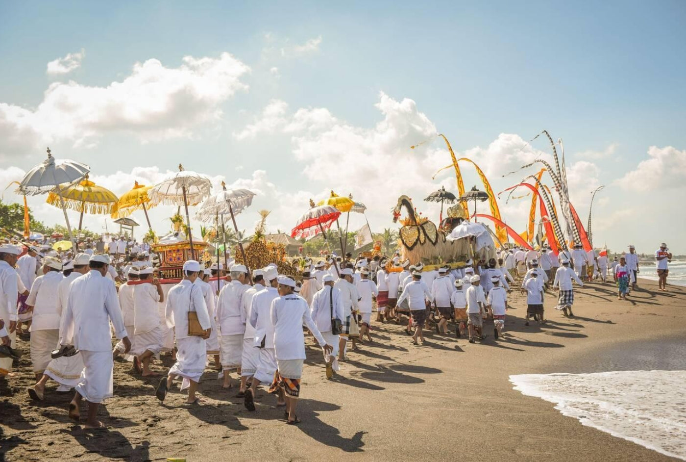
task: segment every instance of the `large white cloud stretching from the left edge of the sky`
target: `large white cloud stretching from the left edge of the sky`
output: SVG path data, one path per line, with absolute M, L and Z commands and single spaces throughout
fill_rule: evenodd
M 241 77 L 249 71 L 222 53 L 185 56 L 176 68 L 156 59 L 137 62 L 128 77 L 108 86 L 55 82 L 35 110 L 0 103 L 0 157 L 56 141 L 93 145 L 108 132 L 133 133 L 144 142 L 191 137 L 221 119 L 220 104 L 248 89 Z

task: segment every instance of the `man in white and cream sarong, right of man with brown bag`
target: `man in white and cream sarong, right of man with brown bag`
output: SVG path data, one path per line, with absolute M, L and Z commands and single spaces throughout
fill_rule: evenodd
M 241 367 L 243 356 L 243 338 L 246 333 L 246 319 L 243 310 L 243 294 L 250 288 L 248 269 L 244 265 L 233 265 L 230 268 L 231 281 L 219 292 L 217 301 L 217 323 L 220 333 L 220 359 L 224 369 L 222 386 L 230 388 L 230 372 Z

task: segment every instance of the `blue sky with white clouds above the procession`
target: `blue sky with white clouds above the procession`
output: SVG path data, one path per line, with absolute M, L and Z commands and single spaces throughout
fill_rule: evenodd
M 257 196 L 237 217 L 248 234 L 262 209 L 269 231 L 289 231 L 331 190 L 367 206 L 351 230 L 368 220 L 381 231 L 398 227 L 403 194 L 435 222 L 440 206 L 423 198 L 457 194 L 454 170 L 432 179 L 451 163 L 439 133 L 499 193 L 540 168 L 524 165 L 552 162 L 545 137 L 530 142 L 545 129 L 563 141 L 584 224 L 604 185 L 596 247 L 650 253 L 665 241 L 685 254 L 686 3 L 488 3 L 1 2 L 0 187 L 49 146 L 115 194 L 179 163 L 214 192 L 248 188 Z M 466 189 L 484 189 L 460 169 Z M 5 202 L 21 200 L 13 189 Z M 517 232 L 524 194 L 498 200 Z M 45 197 L 29 206 L 64 222 Z M 158 234 L 175 211 L 150 211 Z M 84 225 L 116 229 L 108 216 Z

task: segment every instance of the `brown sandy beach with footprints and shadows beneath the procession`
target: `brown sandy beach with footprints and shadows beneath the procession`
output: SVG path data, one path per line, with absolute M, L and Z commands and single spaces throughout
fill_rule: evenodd
M 160 404 L 158 379 L 143 380 L 130 363 L 115 362 L 115 397 L 99 415 L 108 430 L 84 430 L 67 417 L 72 394 L 56 393 L 54 382 L 45 401 L 29 402 L 33 373 L 23 340 L 16 376 L 0 381 L 0 452 L 7 461 L 676 460 L 582 426 L 508 381 L 511 374 L 626 365 L 631 359 L 618 356 L 628 351 L 623 345 L 683 338 L 686 290 L 672 286 L 665 294 L 652 281 L 639 282 L 628 301 L 617 301 L 609 283 L 576 290 L 574 319 L 553 310 L 556 297 L 547 294 L 549 322 L 528 327 L 525 297 L 512 292 L 508 335 L 494 341 L 487 321 L 490 336 L 482 344 L 427 334 L 426 345 L 414 346 L 401 326 L 375 323 L 375 343 L 351 352 L 335 380 L 324 378 L 320 350 L 308 337 L 298 426 L 281 420 L 276 398 L 265 391 L 249 413 L 237 390 L 222 389 L 210 369 L 200 384 L 202 405 L 185 405 L 178 389 Z M 637 359 L 635 369 L 645 364 Z M 169 365 L 164 358 L 153 367 L 165 373 Z

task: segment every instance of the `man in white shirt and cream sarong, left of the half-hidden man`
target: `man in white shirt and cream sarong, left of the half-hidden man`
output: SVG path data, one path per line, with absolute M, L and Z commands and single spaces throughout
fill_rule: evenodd
M 43 264 L 45 274 L 39 276 L 31 286 L 26 299 L 29 312 L 32 312 L 31 323 L 31 362 L 34 366 L 36 382 L 43 377 L 43 372 L 51 360 L 50 354 L 60 339 L 60 314 L 57 311 L 58 284 L 62 277 L 62 260 L 46 257 Z

